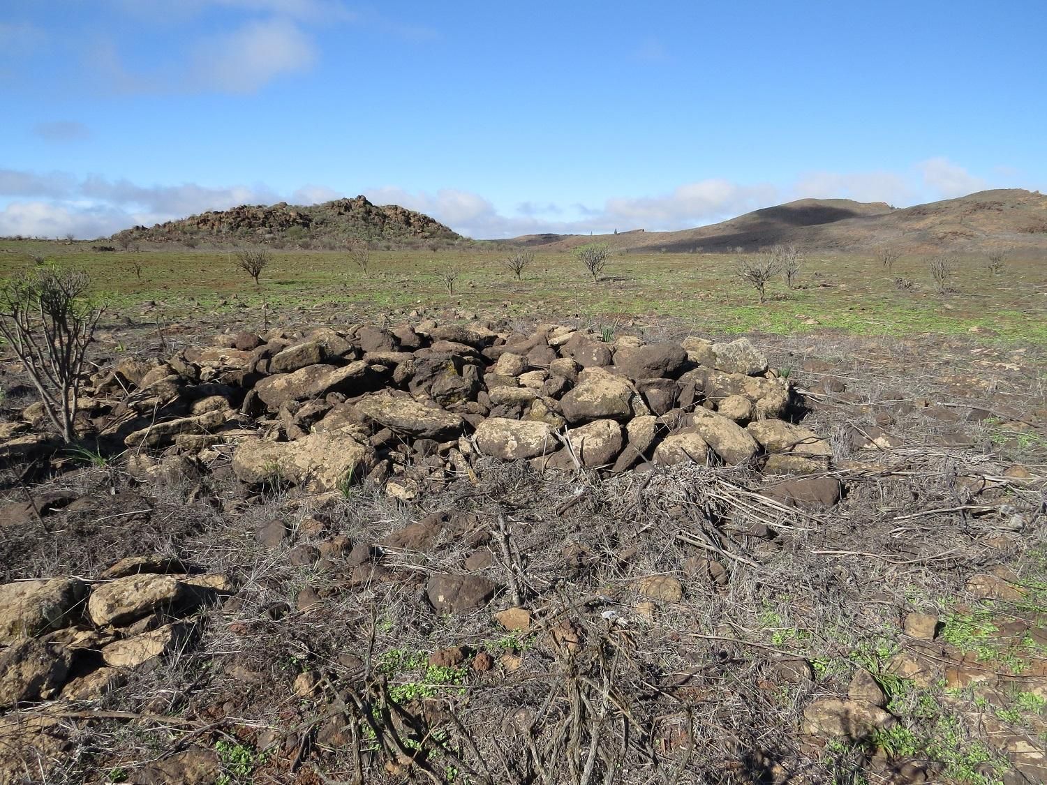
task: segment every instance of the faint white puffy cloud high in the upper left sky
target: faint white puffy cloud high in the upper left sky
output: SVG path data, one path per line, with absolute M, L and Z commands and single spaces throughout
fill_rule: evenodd
M 276 76 L 309 70 L 316 58 L 312 39 L 293 22 L 249 22 L 197 44 L 186 85 L 198 90 L 250 93 Z

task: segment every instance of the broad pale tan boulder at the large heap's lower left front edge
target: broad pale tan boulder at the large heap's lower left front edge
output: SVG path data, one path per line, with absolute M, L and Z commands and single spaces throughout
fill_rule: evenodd
M 310 433 L 294 442 L 253 439 L 232 454 L 232 471 L 242 483 L 281 483 L 312 491 L 334 491 L 364 476 L 375 452 L 343 431 Z

